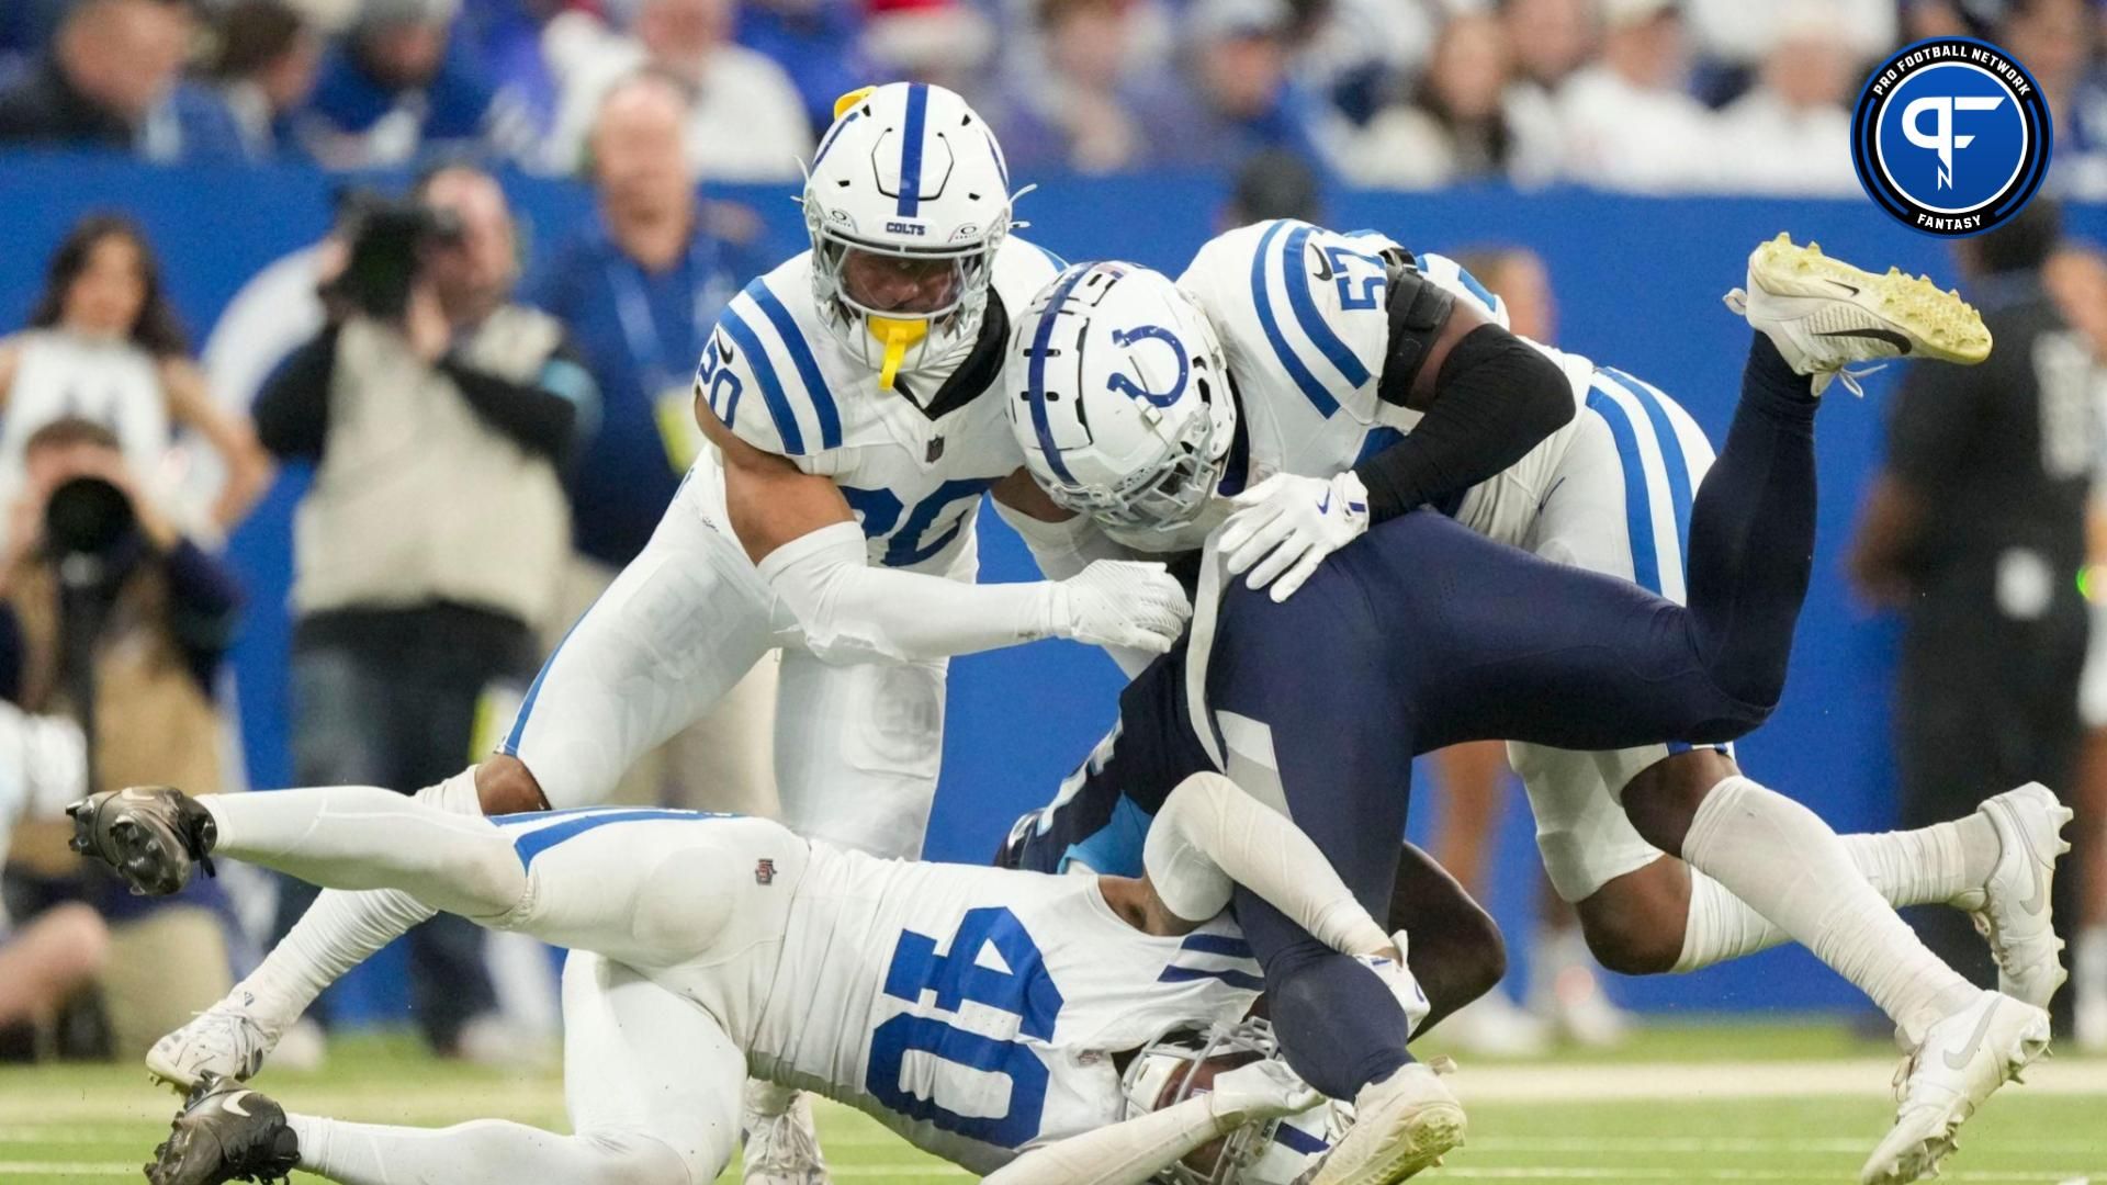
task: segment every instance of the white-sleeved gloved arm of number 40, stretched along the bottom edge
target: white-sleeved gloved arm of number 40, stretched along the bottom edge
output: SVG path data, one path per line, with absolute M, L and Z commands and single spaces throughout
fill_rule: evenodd
M 1317 1105 L 1285 1063 L 1258 1061 L 1214 1080 L 1207 1094 L 1176 1107 L 1035 1147 L 997 1168 L 990 1185 L 1144 1185 L 1178 1160 L 1243 1124 L 1294 1115 Z

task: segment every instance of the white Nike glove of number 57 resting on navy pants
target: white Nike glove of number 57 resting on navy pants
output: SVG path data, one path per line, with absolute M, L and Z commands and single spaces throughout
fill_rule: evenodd
M 1332 481 L 1277 472 L 1230 504 L 1237 512 L 1222 525 L 1220 544 L 1228 571 L 1249 567 L 1243 584 L 1273 584 L 1275 601 L 1294 597 L 1323 557 L 1367 531 L 1367 487 L 1353 470 Z

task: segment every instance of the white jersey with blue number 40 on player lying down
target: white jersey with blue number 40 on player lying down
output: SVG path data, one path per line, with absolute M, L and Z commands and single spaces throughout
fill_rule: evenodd
M 1127 926 L 1098 877 L 811 846 L 752 1073 L 849 1103 L 973 1172 L 1123 1118 L 1112 1054 L 1243 1018 L 1260 968 L 1218 917 Z

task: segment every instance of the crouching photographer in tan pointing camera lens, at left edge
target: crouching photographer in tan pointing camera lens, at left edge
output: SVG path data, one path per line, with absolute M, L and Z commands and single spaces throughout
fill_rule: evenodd
M 46 770 L 38 776 L 88 791 L 185 778 L 219 789 L 213 683 L 240 609 L 234 574 L 141 493 L 118 434 L 93 420 L 59 417 L 29 434 L 8 512 L 0 696 L 36 713 L 23 717 L 32 723 L 78 721 L 38 725 L 48 734 L 27 753 Z M 70 753 L 65 734 L 72 744 L 84 734 L 84 753 Z M 36 740 L 36 730 L 23 736 Z M 101 913 L 110 1046 L 133 1056 L 232 985 L 223 902 L 169 907 L 107 877 L 80 879 L 63 833 L 25 824 L 11 856 L 29 871 L 32 905 L 51 907 L 44 915 L 65 917 L 57 902 L 70 900 Z

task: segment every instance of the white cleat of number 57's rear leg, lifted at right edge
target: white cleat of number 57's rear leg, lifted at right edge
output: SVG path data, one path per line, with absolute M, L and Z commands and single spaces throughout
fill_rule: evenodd
M 1953 905 L 1966 909 L 1976 930 L 1989 938 L 1989 953 L 1997 959 L 1997 991 L 2048 1008 L 2048 997 L 2071 976 L 2063 968 L 2063 938 L 2056 936 L 2048 905 L 2056 883 L 2056 856 L 2071 850 L 2069 839 L 2063 839 L 2071 808 L 2056 801 L 2048 786 L 2027 782 L 1976 810 L 1997 831 L 2002 850 L 1989 881 Z

